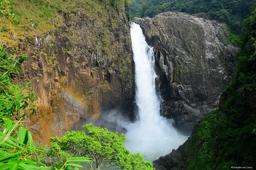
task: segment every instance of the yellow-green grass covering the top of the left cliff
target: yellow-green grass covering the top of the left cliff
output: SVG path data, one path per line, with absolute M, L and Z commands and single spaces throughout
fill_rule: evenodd
M 127 0 L 12 0 L 10 3 L 15 6 L 14 14 L 17 15 L 19 23 L 12 29 L 20 38 L 35 36 L 42 33 L 50 33 L 65 25 L 61 15 L 73 14 L 84 15 L 90 18 L 98 16 L 102 10 L 113 9 L 124 6 Z M 100 15 L 99 15 L 100 17 Z M 94 18 L 91 18 L 92 21 Z

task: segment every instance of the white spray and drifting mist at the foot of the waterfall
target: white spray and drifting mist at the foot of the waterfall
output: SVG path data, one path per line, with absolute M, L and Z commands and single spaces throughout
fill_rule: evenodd
M 111 132 L 124 133 L 125 148 L 130 150 L 131 154 L 139 152 L 144 155 L 144 160 L 151 162 L 160 156 L 169 154 L 172 149 L 177 149 L 188 138 L 177 132 L 172 119 L 159 116 L 158 124 L 146 124 L 141 120 L 132 123 L 123 115 L 125 113 L 120 110 L 111 110 L 103 113 L 100 119 L 90 119 L 87 123 L 92 122 L 94 126 L 106 127 Z M 113 170 L 115 168 L 101 169 Z

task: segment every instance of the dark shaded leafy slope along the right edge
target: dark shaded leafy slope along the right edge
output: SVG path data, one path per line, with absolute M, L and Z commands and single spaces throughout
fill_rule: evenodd
M 230 169 L 256 162 L 256 9 L 244 20 L 236 73 L 224 90 L 220 110 L 213 111 L 195 128 L 186 169 Z M 236 37 L 233 37 L 236 39 Z

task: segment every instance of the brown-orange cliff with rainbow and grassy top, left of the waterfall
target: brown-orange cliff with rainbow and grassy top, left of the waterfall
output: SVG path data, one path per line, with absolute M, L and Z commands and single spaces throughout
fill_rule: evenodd
M 31 81 L 38 95 L 36 116 L 28 118 L 36 142 L 49 144 L 49 137 L 79 130 L 86 119 L 112 108 L 133 117 L 134 69 L 125 1 L 116 7 L 100 1 L 74 3 L 76 8 L 68 6 L 50 19 L 55 30 L 41 34 L 38 28 L 35 37 L 16 36 L 18 48 L 30 58 L 17 81 Z

